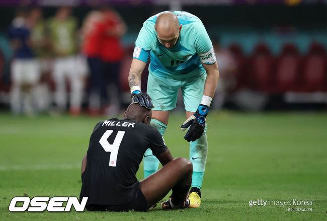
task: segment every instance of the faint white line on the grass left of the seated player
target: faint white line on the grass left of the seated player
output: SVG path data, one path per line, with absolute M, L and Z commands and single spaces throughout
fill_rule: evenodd
M 0 171 L 11 170 L 51 170 L 51 169 L 76 169 L 81 164 L 59 164 L 59 165 L 16 165 L 16 166 L 0 166 Z

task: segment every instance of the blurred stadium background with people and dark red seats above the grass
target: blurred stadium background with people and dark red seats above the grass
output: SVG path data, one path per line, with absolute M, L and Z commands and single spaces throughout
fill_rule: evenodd
M 198 16 L 220 72 L 211 109 L 327 109 L 327 1 L 2 0 L 0 111 L 113 116 L 143 22 Z M 147 68 L 142 75 L 146 91 Z M 177 110 L 184 110 L 179 98 Z

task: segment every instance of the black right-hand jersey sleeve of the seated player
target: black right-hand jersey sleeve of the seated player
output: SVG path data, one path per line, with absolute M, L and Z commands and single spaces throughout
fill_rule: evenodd
M 154 156 L 159 156 L 163 152 L 167 151 L 168 148 L 166 146 L 165 140 L 163 140 L 163 137 L 159 133 L 159 131 L 152 127 L 149 126 L 149 145 L 150 149 L 153 153 Z

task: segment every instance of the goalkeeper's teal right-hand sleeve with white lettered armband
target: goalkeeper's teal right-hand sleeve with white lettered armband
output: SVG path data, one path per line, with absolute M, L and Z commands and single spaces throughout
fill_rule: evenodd
M 196 24 L 195 47 L 202 63 L 213 64 L 216 62 L 216 55 L 212 43 L 203 24 Z

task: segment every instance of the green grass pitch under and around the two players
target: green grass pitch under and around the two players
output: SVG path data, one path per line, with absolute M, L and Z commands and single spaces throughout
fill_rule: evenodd
M 166 144 L 188 157 L 171 115 Z M 14 196 L 78 196 L 80 163 L 101 118 L 0 114 L 0 220 L 322 220 L 327 218 L 327 113 L 209 113 L 200 208 L 147 212 L 10 212 Z M 137 173 L 142 178 L 143 166 Z M 167 196 L 166 196 L 167 198 Z M 165 198 L 165 199 L 166 199 Z M 250 200 L 312 200 L 312 211 Z

